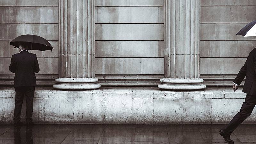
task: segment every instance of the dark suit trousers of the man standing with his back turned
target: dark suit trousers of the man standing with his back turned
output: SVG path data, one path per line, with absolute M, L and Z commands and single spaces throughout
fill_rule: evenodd
M 34 86 L 21 86 L 15 88 L 14 123 L 20 121 L 21 107 L 24 96 L 26 96 L 26 122 L 28 123 L 32 121 L 34 93 Z

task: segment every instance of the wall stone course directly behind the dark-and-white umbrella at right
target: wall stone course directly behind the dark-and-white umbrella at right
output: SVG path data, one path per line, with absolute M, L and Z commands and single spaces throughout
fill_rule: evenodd
M 244 23 L 201 23 L 201 40 L 256 40 L 255 37 L 236 36 Z

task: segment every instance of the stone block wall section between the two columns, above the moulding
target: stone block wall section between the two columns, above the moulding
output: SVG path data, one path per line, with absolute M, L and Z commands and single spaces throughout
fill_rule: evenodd
M 95 0 L 95 74 L 163 74 L 164 0 Z

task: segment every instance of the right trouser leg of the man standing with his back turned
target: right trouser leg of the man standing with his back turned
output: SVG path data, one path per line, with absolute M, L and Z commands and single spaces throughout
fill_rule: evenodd
M 35 87 L 29 86 L 26 87 L 26 123 L 32 122 L 32 115 L 33 115 L 33 99 L 34 99 Z

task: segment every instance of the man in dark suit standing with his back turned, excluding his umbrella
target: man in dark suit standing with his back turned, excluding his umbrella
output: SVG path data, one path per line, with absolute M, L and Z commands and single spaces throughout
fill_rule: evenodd
M 15 73 L 15 108 L 14 108 L 14 126 L 23 125 L 20 122 L 20 114 L 24 95 L 26 96 L 26 124 L 34 125 L 32 122 L 33 99 L 36 86 L 35 72 L 39 72 L 39 64 L 36 54 L 28 52 L 28 45 L 20 43 L 20 53 L 12 55 L 9 70 Z

